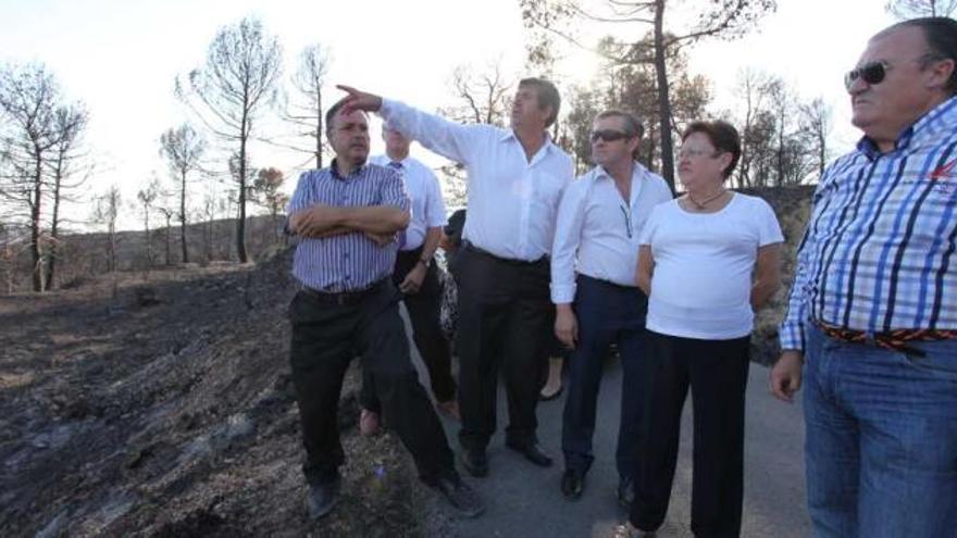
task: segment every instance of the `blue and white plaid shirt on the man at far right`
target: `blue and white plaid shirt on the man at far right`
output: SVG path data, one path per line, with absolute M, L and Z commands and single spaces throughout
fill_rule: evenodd
M 957 98 L 882 154 L 867 137 L 824 171 L 798 247 L 782 349 L 807 322 L 957 329 Z

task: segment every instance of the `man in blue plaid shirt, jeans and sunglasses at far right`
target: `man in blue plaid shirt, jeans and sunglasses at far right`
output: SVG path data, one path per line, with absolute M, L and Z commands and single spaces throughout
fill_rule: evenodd
M 898 23 L 847 74 L 865 136 L 821 176 L 771 391 L 804 380 L 817 537 L 957 531 L 957 22 Z

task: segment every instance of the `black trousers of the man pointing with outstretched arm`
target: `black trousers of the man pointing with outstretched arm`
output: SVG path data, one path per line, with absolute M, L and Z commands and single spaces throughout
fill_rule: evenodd
M 537 440 L 542 375 L 555 308 L 548 260 L 502 260 L 465 246 L 451 267 L 459 289 L 459 441 L 484 449 L 496 430 L 496 390 L 501 368 L 508 397 L 507 440 Z

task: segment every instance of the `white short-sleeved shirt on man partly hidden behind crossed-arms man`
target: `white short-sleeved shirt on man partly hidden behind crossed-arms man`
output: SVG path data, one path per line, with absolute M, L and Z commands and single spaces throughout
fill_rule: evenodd
M 428 228 L 445 226 L 448 222 L 438 178 L 432 168 L 411 157 L 395 161 L 388 155 L 375 155 L 369 162 L 380 166 L 388 166 L 390 162 L 402 165 L 398 172 L 406 184 L 406 193 L 412 199 L 412 217 L 406 228 L 406 245 L 401 250 L 418 249 L 425 242 Z

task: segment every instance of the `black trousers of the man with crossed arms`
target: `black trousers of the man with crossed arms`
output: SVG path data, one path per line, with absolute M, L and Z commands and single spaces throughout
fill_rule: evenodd
M 340 303 L 303 290 L 289 305 L 289 362 L 306 446 L 303 472 L 310 484 L 334 478 L 344 462 L 336 411 L 356 352 L 420 477 L 432 483 L 456 473 L 445 431 L 409 359 L 399 299 L 391 281 L 384 280 L 355 301 Z

